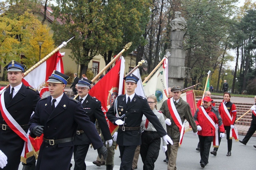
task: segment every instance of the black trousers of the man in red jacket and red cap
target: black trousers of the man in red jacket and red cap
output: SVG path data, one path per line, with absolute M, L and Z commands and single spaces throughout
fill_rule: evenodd
M 201 156 L 200 163 L 204 163 L 206 165 L 209 163 L 208 159 L 209 159 L 211 144 L 213 141 L 213 136 L 198 135 L 198 138 L 200 141 L 200 156 Z

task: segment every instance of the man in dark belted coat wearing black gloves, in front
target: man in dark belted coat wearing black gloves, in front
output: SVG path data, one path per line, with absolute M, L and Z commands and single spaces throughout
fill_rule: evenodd
M 69 76 L 57 71 L 49 76 L 47 82 L 51 96 L 38 102 L 30 118 L 31 137 L 44 135 L 36 170 L 69 169 L 77 125 L 84 130 L 100 157 L 106 157 L 106 148 L 82 104 L 63 92 L 68 79 Z

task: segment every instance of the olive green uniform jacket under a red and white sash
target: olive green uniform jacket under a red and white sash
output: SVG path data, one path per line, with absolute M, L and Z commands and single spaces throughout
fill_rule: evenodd
M 166 119 L 171 120 L 171 125 L 166 125 L 167 134 L 171 137 L 172 141 L 180 141 L 181 133 L 180 133 L 179 127 L 174 123 L 171 117 L 167 102 L 168 102 L 168 99 L 163 102 L 162 107 L 160 108 L 160 111 L 163 113 L 163 117 L 165 118 L 165 120 Z M 191 114 L 189 104 L 183 101 L 182 98 L 180 98 L 180 101 L 175 105 L 175 107 L 181 117 L 182 123 L 184 123 L 185 119 L 187 119 L 189 125 L 193 129 L 193 132 L 196 133 L 197 126 Z

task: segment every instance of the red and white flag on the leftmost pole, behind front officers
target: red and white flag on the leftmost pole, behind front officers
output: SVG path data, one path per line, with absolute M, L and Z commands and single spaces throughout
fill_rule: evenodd
M 52 57 L 43 62 L 37 68 L 33 69 L 26 77 L 22 79 L 22 82 L 25 86 L 31 86 L 34 89 L 38 90 L 40 93 L 40 97 L 48 97 L 48 77 L 52 75 L 53 71 L 56 70 L 58 72 L 64 73 L 64 67 L 62 62 L 62 57 L 65 55 L 65 52 L 60 53 L 59 51 L 55 52 Z M 27 135 L 29 135 L 29 130 Z M 40 146 L 43 142 L 43 135 L 36 138 L 31 138 L 29 135 L 29 139 L 34 149 L 34 155 L 37 159 Z M 28 149 L 25 149 L 25 152 L 22 153 L 21 160 L 26 163 L 26 153 Z

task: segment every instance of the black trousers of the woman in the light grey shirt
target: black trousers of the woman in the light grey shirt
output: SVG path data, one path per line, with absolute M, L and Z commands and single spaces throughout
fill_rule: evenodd
M 143 170 L 154 170 L 155 161 L 158 158 L 161 145 L 161 137 L 158 133 L 141 134 L 140 155 L 143 162 Z

